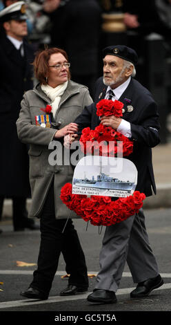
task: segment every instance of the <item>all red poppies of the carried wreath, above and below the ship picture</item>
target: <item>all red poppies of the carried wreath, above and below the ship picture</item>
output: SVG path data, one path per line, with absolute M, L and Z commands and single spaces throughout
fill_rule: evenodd
M 97 115 L 115 115 L 122 116 L 123 103 L 115 100 L 101 100 L 97 104 Z M 109 141 L 122 141 L 119 147 L 106 145 Z M 88 142 L 88 145 L 87 145 Z M 97 142 L 97 143 L 96 143 Z M 106 149 L 104 150 L 103 142 L 105 142 Z M 96 145 L 99 146 L 99 156 L 116 156 L 120 150 L 123 150 L 123 156 L 129 156 L 133 150 L 133 142 L 123 136 L 121 133 L 112 129 L 112 127 L 105 127 L 99 124 L 94 130 L 89 127 L 83 129 L 80 144 L 81 150 L 85 154 L 96 154 Z M 114 148 L 113 148 L 114 147 Z M 82 194 L 72 194 L 72 184 L 66 183 L 61 188 L 61 201 L 66 206 L 74 211 L 78 216 L 92 225 L 114 225 L 120 223 L 129 216 L 139 212 L 143 206 L 145 194 L 135 191 L 132 195 L 126 198 L 113 199 L 110 196 L 90 196 Z M 115 200 L 115 201 L 114 201 Z

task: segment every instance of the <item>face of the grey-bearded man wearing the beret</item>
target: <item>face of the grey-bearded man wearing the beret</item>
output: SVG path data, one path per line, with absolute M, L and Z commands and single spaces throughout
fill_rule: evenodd
M 112 89 L 115 89 L 123 84 L 128 79 L 125 71 L 126 69 L 121 57 L 105 55 L 103 59 L 103 82 L 106 86 L 111 86 Z

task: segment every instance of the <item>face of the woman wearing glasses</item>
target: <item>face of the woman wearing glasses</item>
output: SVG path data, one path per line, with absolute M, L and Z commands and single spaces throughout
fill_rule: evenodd
M 48 84 L 51 87 L 57 87 L 59 84 L 63 84 L 68 80 L 68 71 L 69 68 L 64 66 L 64 63 L 67 63 L 66 57 L 61 53 L 54 53 L 50 55 L 48 61 L 49 71 L 48 71 Z M 60 67 L 55 68 L 57 64 L 61 64 Z

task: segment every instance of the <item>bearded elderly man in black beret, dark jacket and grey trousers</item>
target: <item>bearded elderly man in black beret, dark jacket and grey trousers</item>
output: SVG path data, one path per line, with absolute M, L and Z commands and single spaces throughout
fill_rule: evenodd
M 151 148 L 159 144 L 159 114 L 151 93 L 134 80 L 137 53 L 127 46 L 108 46 L 103 50 L 103 77 L 97 80 L 94 104 L 86 107 L 74 121 L 79 133 L 84 127 L 94 129 L 99 124 L 96 103 L 112 99 L 123 102 L 123 118 L 103 116 L 101 123 L 113 127 L 134 141 L 128 157 L 138 170 L 136 190 L 146 196 L 156 192 L 152 169 Z M 70 139 L 70 143 L 73 138 Z M 66 139 L 67 142 L 67 139 Z M 125 221 L 106 227 L 100 252 L 100 270 L 94 291 L 88 301 L 110 304 L 117 301 L 116 291 L 127 261 L 137 288 L 131 297 L 146 297 L 163 284 L 157 261 L 150 248 L 145 230 L 143 210 Z

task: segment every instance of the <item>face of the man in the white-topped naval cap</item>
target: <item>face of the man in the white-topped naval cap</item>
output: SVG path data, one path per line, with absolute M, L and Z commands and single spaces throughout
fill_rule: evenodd
M 10 20 L 3 24 L 6 30 L 6 34 L 19 39 L 21 41 L 23 37 L 28 35 L 28 26 L 26 20 Z

